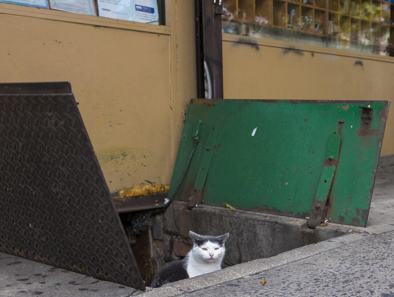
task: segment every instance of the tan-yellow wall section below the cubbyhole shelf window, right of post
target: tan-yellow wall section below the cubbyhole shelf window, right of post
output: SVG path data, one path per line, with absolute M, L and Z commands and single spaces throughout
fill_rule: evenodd
M 392 100 L 393 78 L 394 57 L 223 34 L 224 98 Z M 392 154 L 394 106 L 381 150 Z

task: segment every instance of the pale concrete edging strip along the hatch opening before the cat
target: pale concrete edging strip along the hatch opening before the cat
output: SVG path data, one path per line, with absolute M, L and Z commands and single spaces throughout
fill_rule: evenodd
M 348 234 L 318 242 L 317 244 L 306 245 L 299 247 L 291 251 L 281 253 L 277 256 L 273 256 L 265 259 L 257 259 L 246 263 L 227 267 L 219 271 L 208 273 L 206 275 L 200 275 L 193 277 L 192 279 L 180 280 L 171 284 L 165 285 L 158 289 L 150 289 L 149 291 L 140 294 L 144 297 L 149 296 L 162 296 L 171 297 L 180 295 L 182 293 L 190 293 L 201 290 L 203 288 L 209 288 L 224 282 L 241 279 L 258 273 L 262 273 L 269 269 L 284 266 L 311 256 L 315 256 L 332 249 L 337 249 L 343 245 L 347 245 L 351 242 L 361 240 L 365 236 L 371 236 L 369 234 Z

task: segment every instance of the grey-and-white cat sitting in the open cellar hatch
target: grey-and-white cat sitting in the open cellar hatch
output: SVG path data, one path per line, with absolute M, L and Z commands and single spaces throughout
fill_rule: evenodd
M 190 231 L 189 236 L 193 240 L 193 248 L 184 259 L 169 262 L 160 269 L 152 281 L 151 288 L 159 288 L 170 282 L 221 269 L 226 251 L 224 244 L 230 233 L 205 236 Z

